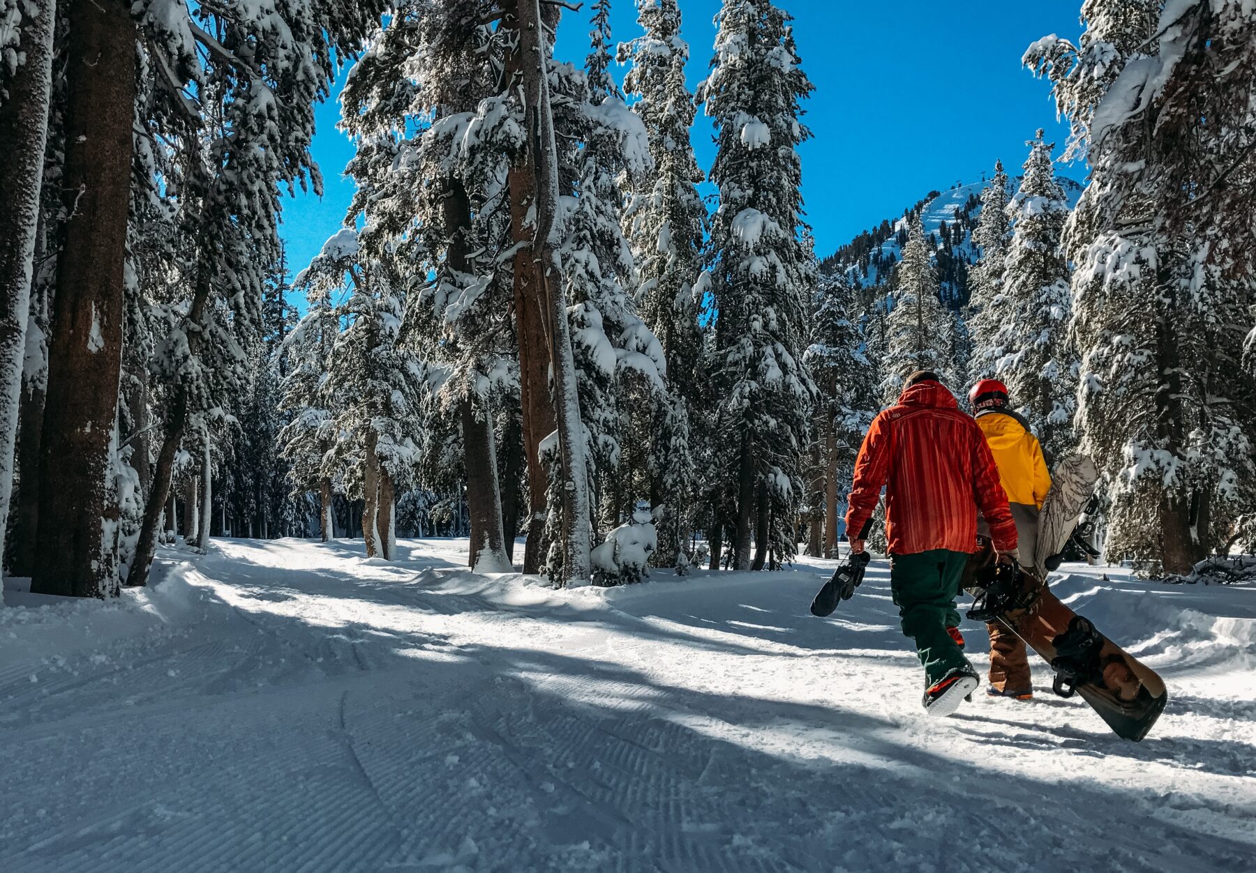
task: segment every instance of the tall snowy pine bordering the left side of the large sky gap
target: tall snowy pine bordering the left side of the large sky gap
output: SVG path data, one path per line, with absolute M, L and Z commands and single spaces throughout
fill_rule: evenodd
M 716 54 L 698 99 L 715 119 L 711 226 L 716 311 L 712 410 L 725 452 L 712 475 L 736 483 L 734 566 L 794 556 L 794 508 L 803 492 L 815 386 L 803 366 L 815 263 L 801 237 L 800 123 L 811 83 L 799 66 L 790 16 L 767 0 L 726 0 Z M 757 523 L 755 519 L 757 518 Z M 717 559 L 718 556 L 713 556 Z

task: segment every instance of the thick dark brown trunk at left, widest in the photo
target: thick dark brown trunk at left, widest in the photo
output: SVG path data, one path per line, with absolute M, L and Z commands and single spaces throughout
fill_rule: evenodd
M 31 591 L 109 597 L 118 577 L 104 527 L 122 370 L 136 25 L 122 0 L 69 0 L 64 248 L 58 265 Z

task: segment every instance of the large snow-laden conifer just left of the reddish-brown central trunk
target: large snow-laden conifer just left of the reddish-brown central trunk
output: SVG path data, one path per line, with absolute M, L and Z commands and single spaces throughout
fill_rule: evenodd
M 450 487 L 466 477 L 468 563 L 505 572 L 514 532 L 504 532 L 494 424 L 515 349 L 509 270 L 497 255 L 509 248 L 501 193 L 515 143 L 499 139 L 491 120 L 501 103 L 485 59 L 500 63 L 502 48 L 481 11 L 466 0 L 399 6 L 350 74 L 342 127 L 358 140 L 354 174 L 371 177 L 357 208 L 387 232 L 379 257 L 432 276 L 414 282 L 406 341 L 440 374 L 428 381 L 425 467 Z

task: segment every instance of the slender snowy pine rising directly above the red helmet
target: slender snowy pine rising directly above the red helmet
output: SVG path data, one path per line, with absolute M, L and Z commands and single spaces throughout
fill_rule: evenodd
M 1004 260 L 1011 241 L 1011 221 L 1007 204 L 1011 202 L 1007 173 L 1004 162 L 995 162 L 995 174 L 981 192 L 981 217 L 972 231 L 972 245 L 980 260 L 968 273 L 968 306 L 966 324 L 972 341 L 968 359 L 968 379 L 990 379 L 995 364 L 1002 357 L 1005 332 L 1012 327 L 1002 296 Z

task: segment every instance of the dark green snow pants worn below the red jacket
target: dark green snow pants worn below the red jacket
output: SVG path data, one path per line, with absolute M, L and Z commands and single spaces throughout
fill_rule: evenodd
M 934 548 L 914 554 L 896 554 L 889 563 L 889 590 L 898 607 L 903 635 L 916 641 L 916 653 L 924 666 L 926 687 L 951 670 L 972 670 L 947 627 L 960 626 L 955 598 L 968 556 Z

